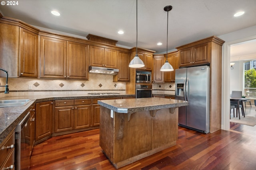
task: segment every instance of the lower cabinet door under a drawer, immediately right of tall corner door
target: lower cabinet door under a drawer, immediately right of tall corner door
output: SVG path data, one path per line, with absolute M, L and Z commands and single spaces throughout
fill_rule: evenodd
M 74 106 L 55 107 L 54 132 L 74 129 Z

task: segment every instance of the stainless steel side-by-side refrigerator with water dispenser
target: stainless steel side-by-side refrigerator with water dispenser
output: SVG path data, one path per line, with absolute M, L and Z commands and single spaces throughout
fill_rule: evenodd
M 179 125 L 209 133 L 210 67 L 176 69 L 175 99 L 189 102 L 188 106 L 179 107 Z

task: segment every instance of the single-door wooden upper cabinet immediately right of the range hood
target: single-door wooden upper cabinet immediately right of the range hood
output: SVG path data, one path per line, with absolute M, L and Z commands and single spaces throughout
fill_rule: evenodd
M 117 53 L 117 68 L 119 69 L 118 74 L 113 76 L 113 81 L 117 82 L 129 82 L 130 81 L 130 53 L 125 51 L 118 51 Z

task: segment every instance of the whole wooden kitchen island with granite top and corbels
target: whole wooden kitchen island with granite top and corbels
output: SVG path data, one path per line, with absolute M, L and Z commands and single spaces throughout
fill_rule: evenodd
M 100 147 L 116 168 L 176 145 L 178 107 L 166 98 L 99 100 Z

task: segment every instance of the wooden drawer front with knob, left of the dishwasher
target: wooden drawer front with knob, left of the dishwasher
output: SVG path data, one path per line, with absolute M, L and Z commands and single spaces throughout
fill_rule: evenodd
M 12 150 L 14 150 L 14 143 L 15 143 L 15 135 L 14 131 L 8 135 L 6 140 L 3 142 L 3 145 L 1 145 L 1 150 L 0 150 L 0 165 L 4 162 L 8 154 Z

